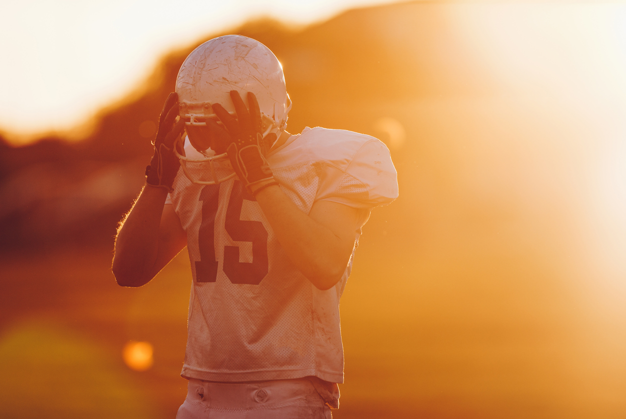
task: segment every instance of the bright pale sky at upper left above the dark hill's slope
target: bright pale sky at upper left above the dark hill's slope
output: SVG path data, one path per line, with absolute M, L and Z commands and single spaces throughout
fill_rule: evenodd
M 0 13 L 0 131 L 58 130 L 123 98 L 160 56 L 252 18 L 307 24 L 391 0 L 23 0 Z M 14 141 L 16 138 L 12 138 Z M 28 138 L 22 138 L 27 140 Z

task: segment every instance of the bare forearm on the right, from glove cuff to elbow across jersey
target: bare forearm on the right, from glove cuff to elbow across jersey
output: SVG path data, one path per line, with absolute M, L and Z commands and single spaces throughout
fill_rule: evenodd
M 317 288 L 334 286 L 346 269 L 352 247 L 304 214 L 278 186 L 261 190 L 256 199 L 294 266 Z

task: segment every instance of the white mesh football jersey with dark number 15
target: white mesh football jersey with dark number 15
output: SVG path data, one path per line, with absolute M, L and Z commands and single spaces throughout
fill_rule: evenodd
M 189 148 L 187 155 L 193 152 Z M 363 224 L 369 209 L 398 197 L 389 150 L 367 135 L 305 128 L 267 160 L 280 188 L 305 214 L 314 202 L 330 200 L 363 209 Z M 190 170 L 205 168 L 192 164 Z M 196 185 L 179 170 L 167 202 L 187 232 L 193 272 L 182 376 L 205 381 L 317 376 L 342 383 L 339 297 L 354 251 L 341 281 L 320 291 L 291 264 L 237 178 Z M 354 232 L 356 240 L 360 232 Z

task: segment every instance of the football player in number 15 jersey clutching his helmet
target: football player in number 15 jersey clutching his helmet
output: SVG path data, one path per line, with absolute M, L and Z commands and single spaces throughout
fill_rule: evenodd
M 330 418 L 339 406 L 339 298 L 362 225 L 398 182 L 379 140 L 319 127 L 291 135 L 290 107 L 263 44 L 229 35 L 200 45 L 118 232 L 121 286 L 146 284 L 188 249 L 179 419 Z

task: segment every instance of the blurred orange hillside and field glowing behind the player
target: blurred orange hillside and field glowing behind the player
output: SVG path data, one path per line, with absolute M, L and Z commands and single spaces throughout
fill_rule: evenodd
M 405 3 L 227 31 L 282 62 L 290 132 L 374 135 L 398 169 L 342 297 L 335 418 L 626 416 L 624 28 L 619 4 Z M 110 261 L 178 68 L 216 35 L 84 140 L 0 143 L 0 416 L 175 416 L 187 254 L 138 289 Z

